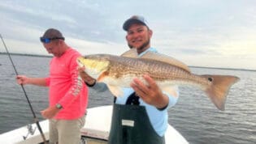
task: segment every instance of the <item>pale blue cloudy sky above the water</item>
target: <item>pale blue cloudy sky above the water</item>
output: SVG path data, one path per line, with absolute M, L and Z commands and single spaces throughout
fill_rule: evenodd
M 188 66 L 256 70 L 255 0 L 0 0 L 0 34 L 10 53 L 49 55 L 39 37 L 57 28 L 83 55 L 119 55 L 132 15 L 149 23 L 152 47 Z

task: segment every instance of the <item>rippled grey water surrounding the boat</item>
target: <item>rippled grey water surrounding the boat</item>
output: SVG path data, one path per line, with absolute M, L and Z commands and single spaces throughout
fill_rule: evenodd
M 12 56 L 19 74 L 44 77 L 49 57 Z M 225 111 L 219 111 L 206 95 L 193 87 L 180 88 L 180 100 L 169 110 L 169 123 L 192 144 L 256 143 L 256 72 L 192 68 L 194 74 L 233 74 L 241 78 L 228 95 Z M 37 117 L 47 107 L 46 87 L 25 86 Z M 112 104 L 111 94 L 89 91 L 89 108 Z M 33 123 L 24 92 L 15 83 L 7 55 L 0 54 L 0 133 Z M 25 134 L 25 133 L 24 133 Z

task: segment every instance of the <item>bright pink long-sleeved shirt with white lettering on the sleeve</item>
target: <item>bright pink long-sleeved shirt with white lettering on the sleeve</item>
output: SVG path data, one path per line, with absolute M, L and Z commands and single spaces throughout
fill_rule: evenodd
M 50 76 L 46 78 L 50 106 L 63 106 L 54 119 L 74 120 L 85 115 L 88 88 L 79 77 L 77 57 L 80 53 L 70 48 L 61 57 L 53 57 L 50 61 Z

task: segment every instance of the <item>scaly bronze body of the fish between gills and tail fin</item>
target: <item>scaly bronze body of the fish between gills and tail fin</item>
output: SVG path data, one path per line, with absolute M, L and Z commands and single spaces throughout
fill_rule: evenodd
M 160 61 L 131 59 L 127 57 L 120 57 L 119 61 L 117 61 L 116 57 L 112 57 L 109 61 L 111 62 L 111 69 L 109 71 L 110 74 L 113 74 L 109 76 L 115 76 L 115 78 L 119 78 L 121 75 L 125 76 L 126 74 L 134 75 L 134 77 L 149 74 L 151 78 L 157 81 L 174 80 L 180 81 L 180 83 L 189 83 L 191 81 L 199 85 L 208 83 L 206 78 L 194 76 L 177 66 L 170 66 Z

